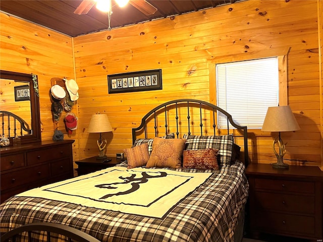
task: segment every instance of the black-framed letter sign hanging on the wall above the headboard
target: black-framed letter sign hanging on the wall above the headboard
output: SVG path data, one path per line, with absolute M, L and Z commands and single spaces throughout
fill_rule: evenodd
M 109 93 L 161 90 L 161 69 L 108 75 L 107 87 Z

